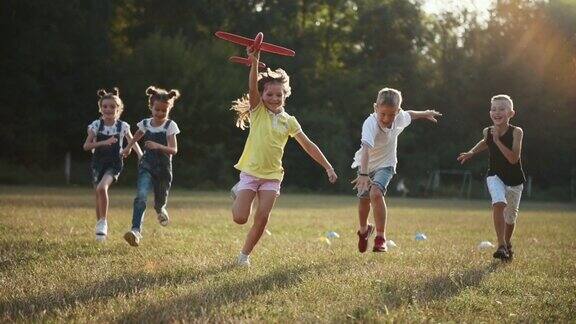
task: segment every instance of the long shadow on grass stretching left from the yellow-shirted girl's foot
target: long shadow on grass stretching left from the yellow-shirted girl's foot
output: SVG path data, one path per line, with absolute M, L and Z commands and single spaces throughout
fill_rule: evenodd
M 79 304 L 136 295 L 151 287 L 182 285 L 201 278 L 228 271 L 232 265 L 220 265 L 204 270 L 181 269 L 167 273 L 136 273 L 110 280 L 93 283 L 79 289 L 51 292 L 0 302 L 0 319 L 30 320 L 37 316 L 54 313 L 57 310 L 75 307 Z

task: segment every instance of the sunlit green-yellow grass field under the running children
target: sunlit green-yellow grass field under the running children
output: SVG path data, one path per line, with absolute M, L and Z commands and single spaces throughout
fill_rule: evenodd
M 0 187 L 0 322 L 576 321 L 574 204 L 523 202 L 502 264 L 476 249 L 494 242 L 487 201 L 389 199 L 398 248 L 359 254 L 353 195 L 284 194 L 237 268 L 248 225 L 226 193 L 174 191 L 172 223 L 150 213 L 139 248 L 122 239 L 133 194 L 112 188 L 97 243 L 87 188 Z

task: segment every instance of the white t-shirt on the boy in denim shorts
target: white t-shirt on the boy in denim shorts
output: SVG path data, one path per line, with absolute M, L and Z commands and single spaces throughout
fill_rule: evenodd
M 412 118 L 410 114 L 402 109 L 398 112 L 390 128 L 382 128 L 378 125 L 376 113 L 366 118 L 362 125 L 362 143 L 368 145 L 368 172 L 379 168 L 392 166 L 396 169 L 398 158 L 396 157 L 396 147 L 398 135 L 404 128 L 410 125 Z M 354 155 L 352 168 L 360 166 L 362 147 Z

